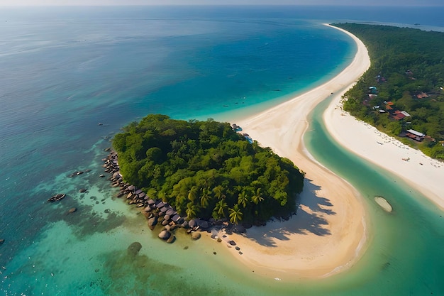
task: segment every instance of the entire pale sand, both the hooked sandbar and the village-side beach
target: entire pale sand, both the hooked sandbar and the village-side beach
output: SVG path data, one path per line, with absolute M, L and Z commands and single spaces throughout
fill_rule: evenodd
M 243 132 L 261 146 L 272 148 L 306 172 L 296 216 L 232 236 L 243 250 L 243 255 L 236 257 L 255 273 L 269 278 L 324 278 L 345 270 L 365 251 L 367 233 L 372 231 L 367 227 L 365 202 L 360 194 L 316 162 L 304 147 L 308 116 L 323 99 L 333 97 L 323 119 L 341 146 L 394 172 L 395 177 L 444 206 L 439 184 L 444 180 L 442 164 L 343 111 L 343 94 L 370 67 L 370 57 L 355 35 L 336 29 L 350 35 L 357 45 L 355 57 L 345 70 L 309 92 L 238 121 Z M 381 141 L 384 145 L 379 144 Z

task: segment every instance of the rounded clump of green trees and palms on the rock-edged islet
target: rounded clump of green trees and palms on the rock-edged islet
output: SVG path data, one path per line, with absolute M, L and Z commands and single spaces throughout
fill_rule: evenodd
M 263 222 L 295 211 L 304 173 L 228 123 L 151 114 L 113 138 L 123 180 L 189 219 Z

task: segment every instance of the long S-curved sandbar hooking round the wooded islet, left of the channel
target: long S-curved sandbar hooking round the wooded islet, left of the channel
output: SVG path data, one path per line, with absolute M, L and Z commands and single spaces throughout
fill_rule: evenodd
M 307 116 L 316 104 L 332 92 L 345 92 L 370 67 L 365 45 L 348 35 L 355 40 L 357 53 L 343 72 L 299 97 L 237 121 L 262 146 L 306 172 L 297 216 L 253 227 L 245 236 L 232 236 L 243 251 L 242 256 L 237 251 L 233 254 L 256 274 L 282 280 L 322 278 L 350 267 L 362 253 L 365 208 L 359 194 L 313 160 L 301 140 L 308 128 Z

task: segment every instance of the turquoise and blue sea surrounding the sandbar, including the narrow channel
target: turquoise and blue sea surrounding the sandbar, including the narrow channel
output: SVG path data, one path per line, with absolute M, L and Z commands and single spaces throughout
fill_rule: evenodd
M 444 7 L 2 7 L 1 295 L 444 295 L 443 212 L 338 146 L 321 120 L 328 100 L 304 141 L 357 188 L 370 221 L 360 261 L 329 278 L 262 278 L 226 246 L 185 234 L 167 245 L 99 177 L 112 136 L 146 114 L 228 121 L 338 74 L 355 45 L 322 23 L 443 31 L 443 15 Z M 77 170 L 90 171 L 69 177 Z M 67 197 L 47 202 L 60 192 Z M 126 251 L 134 241 L 143 246 L 135 258 Z

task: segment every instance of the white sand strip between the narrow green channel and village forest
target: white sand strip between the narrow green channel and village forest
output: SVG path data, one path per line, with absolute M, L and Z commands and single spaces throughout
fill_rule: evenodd
M 343 148 L 392 172 L 444 209 L 444 163 L 433 160 L 393 137 L 387 136 L 343 111 L 341 96 L 335 96 L 323 114 L 328 133 Z M 355 135 L 355 136 L 354 136 Z M 353 141 L 359 137 L 360 141 Z M 396 180 L 394 180 L 396 182 Z

